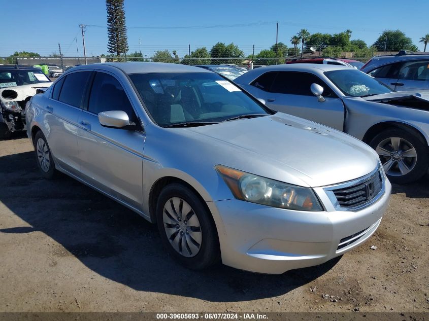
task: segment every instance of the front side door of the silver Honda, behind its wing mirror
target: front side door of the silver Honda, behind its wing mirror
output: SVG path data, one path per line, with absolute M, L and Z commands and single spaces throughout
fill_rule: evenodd
M 137 126 L 108 128 L 98 113 L 124 111 Z M 85 181 L 141 209 L 145 134 L 122 84 L 113 74 L 96 72 L 88 102 L 78 120 L 81 172 Z

